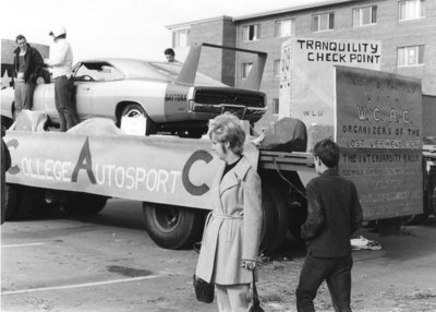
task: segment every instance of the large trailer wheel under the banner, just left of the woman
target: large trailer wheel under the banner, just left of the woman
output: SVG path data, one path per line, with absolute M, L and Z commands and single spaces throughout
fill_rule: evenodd
M 205 214 L 201 211 L 144 202 L 143 214 L 148 235 L 162 248 L 191 248 L 202 236 Z

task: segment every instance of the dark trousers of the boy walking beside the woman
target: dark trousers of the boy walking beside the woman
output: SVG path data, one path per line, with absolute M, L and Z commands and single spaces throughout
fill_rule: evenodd
M 350 312 L 351 255 L 341 257 L 315 257 L 307 255 L 296 287 L 296 310 L 315 311 L 313 300 L 324 280 L 327 281 L 335 311 Z

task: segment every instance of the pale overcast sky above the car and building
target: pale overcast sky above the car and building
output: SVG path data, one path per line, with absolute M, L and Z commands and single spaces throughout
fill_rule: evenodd
M 164 60 L 162 51 L 171 46 L 168 25 L 323 1 L 9 0 L 1 3 L 0 35 L 2 39 L 14 40 L 22 34 L 28 41 L 50 45 L 50 27 L 63 25 L 74 61 L 94 57 Z

